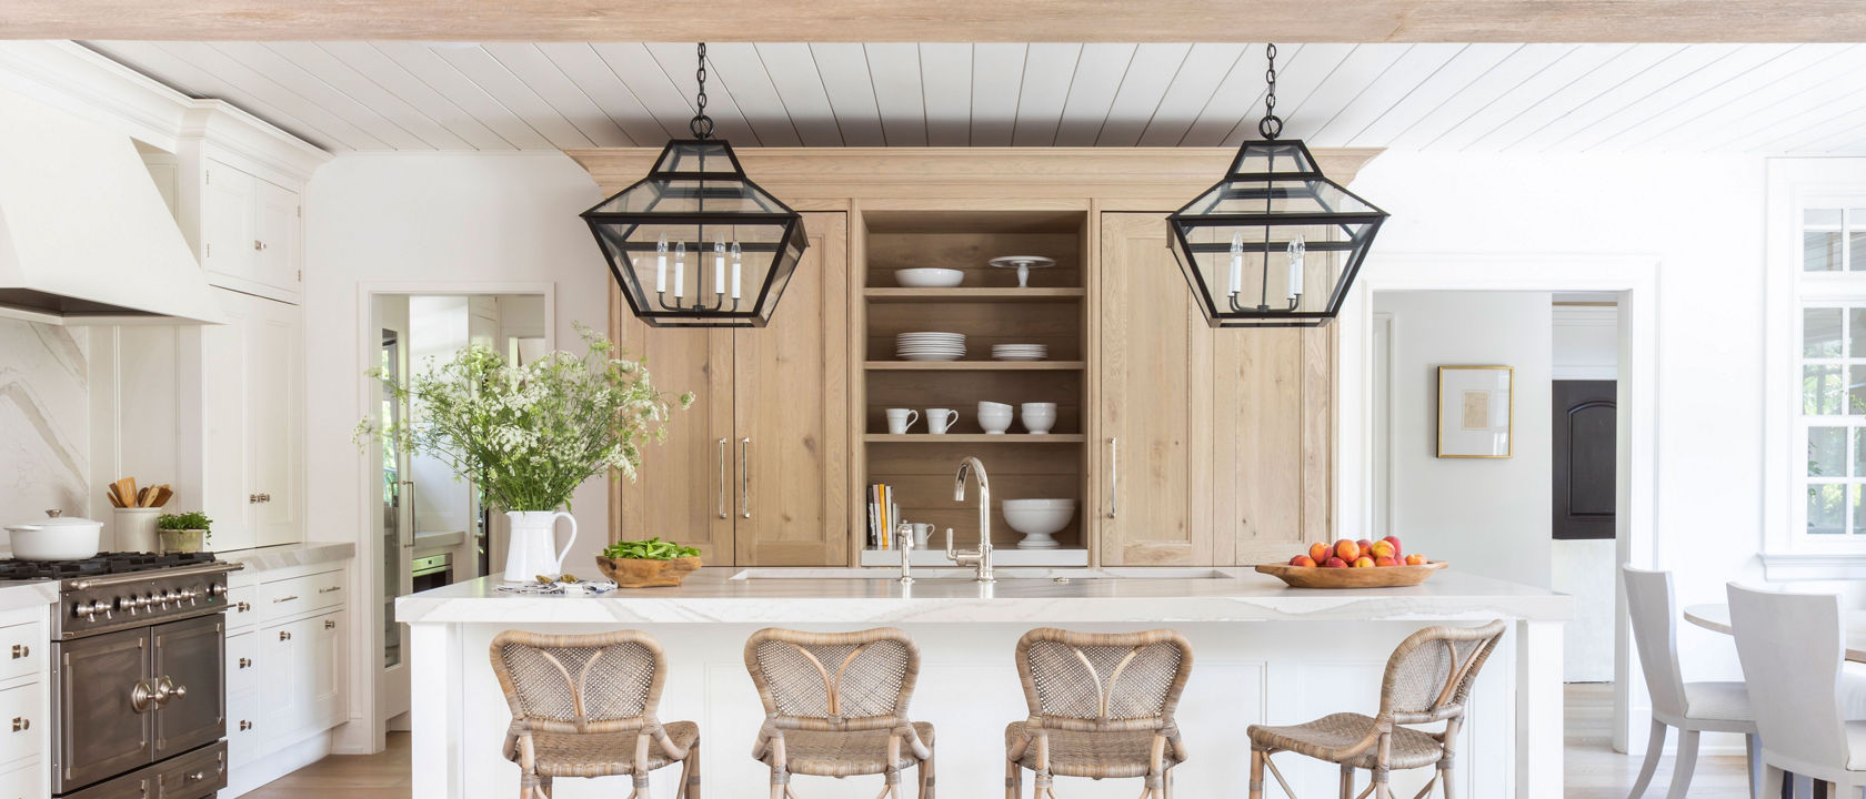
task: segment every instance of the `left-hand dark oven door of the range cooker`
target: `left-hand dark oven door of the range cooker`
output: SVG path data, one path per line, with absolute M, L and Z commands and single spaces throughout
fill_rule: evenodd
M 63 641 L 54 650 L 60 669 L 54 715 L 63 752 L 58 792 L 147 765 L 155 702 L 138 702 L 136 685 L 149 687 L 149 631 Z

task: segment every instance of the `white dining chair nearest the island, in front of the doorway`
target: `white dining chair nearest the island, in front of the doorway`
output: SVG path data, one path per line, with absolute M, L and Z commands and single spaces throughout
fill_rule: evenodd
M 1678 665 L 1678 607 L 1672 600 L 1672 572 L 1620 566 L 1627 590 L 1627 613 L 1633 616 L 1633 644 L 1646 670 L 1646 691 L 1651 693 L 1651 739 L 1646 741 L 1646 764 L 1638 769 L 1633 793 L 1638 799 L 1659 769 L 1668 728 L 1678 728 L 1678 760 L 1672 764 L 1672 790 L 1666 799 L 1683 799 L 1691 788 L 1691 773 L 1698 765 L 1700 732 L 1741 732 L 1748 751 L 1750 799 L 1762 782 L 1762 764 L 1756 743 L 1756 715 L 1741 682 L 1685 682 Z

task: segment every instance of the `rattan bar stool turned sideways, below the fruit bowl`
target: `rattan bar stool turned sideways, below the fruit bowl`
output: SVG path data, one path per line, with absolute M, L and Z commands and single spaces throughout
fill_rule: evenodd
M 1250 799 L 1263 797 L 1263 769 L 1295 795 L 1271 754 L 1297 752 L 1342 765 L 1342 797 L 1392 799 L 1392 769 L 1435 767 L 1431 782 L 1418 792 L 1424 799 L 1441 786 L 1446 799 L 1457 797 L 1452 779 L 1457 726 L 1465 719 L 1465 698 L 1478 669 L 1497 648 L 1506 624 L 1482 628 L 1426 628 L 1394 648 L 1381 682 L 1381 715 L 1334 713 L 1295 726 L 1250 725 Z M 1442 732 L 1424 732 L 1401 725 L 1444 723 Z M 1373 782 L 1355 790 L 1355 769 L 1373 771 Z

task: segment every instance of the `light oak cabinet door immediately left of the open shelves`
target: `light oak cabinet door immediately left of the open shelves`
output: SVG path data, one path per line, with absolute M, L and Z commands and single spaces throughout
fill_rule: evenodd
M 733 332 L 739 566 L 842 566 L 849 548 L 849 216 L 810 238 L 771 324 Z

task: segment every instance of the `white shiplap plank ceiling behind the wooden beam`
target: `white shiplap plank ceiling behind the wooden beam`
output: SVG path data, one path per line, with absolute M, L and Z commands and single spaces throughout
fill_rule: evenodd
M 325 149 L 659 147 L 685 138 L 677 43 L 97 41 Z M 1261 45 L 709 47 L 735 145 L 1237 145 Z M 1469 153 L 1866 155 L 1866 45 L 1286 45 L 1286 138 Z

